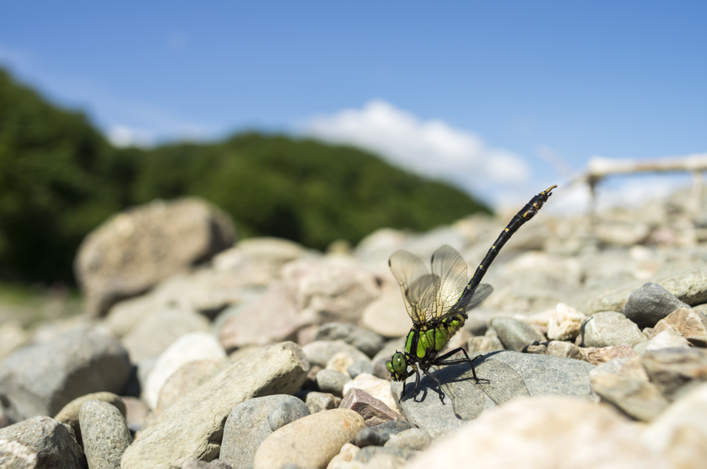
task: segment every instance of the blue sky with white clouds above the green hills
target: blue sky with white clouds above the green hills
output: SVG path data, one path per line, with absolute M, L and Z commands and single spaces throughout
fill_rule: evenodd
M 510 203 L 592 155 L 707 152 L 706 24 L 699 1 L 4 1 L 0 65 L 117 143 L 313 135 Z

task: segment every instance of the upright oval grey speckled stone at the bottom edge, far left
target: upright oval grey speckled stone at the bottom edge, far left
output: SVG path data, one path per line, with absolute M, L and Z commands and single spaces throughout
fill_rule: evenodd
M 121 412 L 103 400 L 86 400 L 78 412 L 83 451 L 89 468 L 120 468 L 120 458 L 132 443 Z

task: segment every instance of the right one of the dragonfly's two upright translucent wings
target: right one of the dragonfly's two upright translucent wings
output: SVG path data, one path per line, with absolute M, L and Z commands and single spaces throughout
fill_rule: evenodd
M 459 301 L 467 285 L 467 263 L 461 254 L 445 244 L 432 254 L 432 273 L 440 278 L 435 317 L 442 317 Z

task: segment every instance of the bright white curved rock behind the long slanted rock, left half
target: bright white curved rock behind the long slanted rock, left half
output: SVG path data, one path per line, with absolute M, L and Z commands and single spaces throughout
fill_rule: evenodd
M 142 397 L 151 408 L 157 407 L 160 389 L 167 379 L 183 364 L 197 360 L 218 360 L 226 357 L 226 352 L 218 340 L 207 332 L 192 332 L 175 340 L 155 363 L 147 377 Z

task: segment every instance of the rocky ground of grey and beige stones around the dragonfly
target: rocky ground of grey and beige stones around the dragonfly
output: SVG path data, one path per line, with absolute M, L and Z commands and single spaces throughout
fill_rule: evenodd
M 448 345 L 486 381 L 442 367 L 443 401 L 390 381 L 411 321 L 388 256 L 450 244 L 476 266 L 510 215 L 327 254 L 229 247 L 194 199 L 115 215 L 77 256 L 86 314 L 0 326 L 0 466 L 706 467 L 707 233 L 685 194 L 541 211 Z

